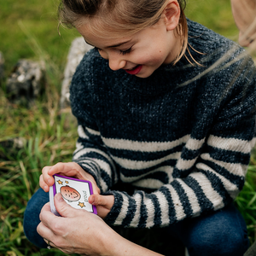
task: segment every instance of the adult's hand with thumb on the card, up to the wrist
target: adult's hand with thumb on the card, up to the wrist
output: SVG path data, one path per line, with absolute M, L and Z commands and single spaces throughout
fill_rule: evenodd
M 98 249 L 102 248 L 99 245 L 99 238 L 102 236 L 98 236 L 101 232 L 94 232 L 103 229 L 109 234 L 110 228 L 102 218 L 83 209 L 70 207 L 62 199 L 61 194 L 55 195 L 55 207 L 63 217 L 56 217 L 50 212 L 49 203 L 44 205 L 40 214 L 38 234 L 43 236 L 47 243 L 49 241 L 50 246 L 57 247 L 64 253 L 102 255 Z M 112 234 L 113 230 L 111 231 Z M 91 248 L 93 244 L 94 247 Z

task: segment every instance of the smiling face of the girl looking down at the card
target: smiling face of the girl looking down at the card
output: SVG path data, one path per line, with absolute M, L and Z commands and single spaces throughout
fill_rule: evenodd
M 139 78 L 148 78 L 162 64 L 174 61 L 181 50 L 179 36 L 166 25 L 164 19 L 131 36 L 99 38 L 87 30 L 77 28 L 86 43 L 95 46 L 112 70 L 125 69 Z M 111 31 L 109 32 L 111 35 Z

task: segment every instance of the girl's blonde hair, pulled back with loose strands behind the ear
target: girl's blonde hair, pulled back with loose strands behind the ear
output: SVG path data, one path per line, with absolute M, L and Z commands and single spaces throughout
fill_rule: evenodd
M 59 19 L 63 26 L 79 27 L 86 24 L 97 37 L 110 37 L 111 31 L 111 38 L 119 38 L 120 34 L 128 36 L 154 26 L 168 2 L 169 0 L 61 0 Z M 188 25 L 183 12 L 186 2 L 177 2 L 181 15 L 176 32 L 181 38 L 182 50 L 173 64 L 188 49 Z

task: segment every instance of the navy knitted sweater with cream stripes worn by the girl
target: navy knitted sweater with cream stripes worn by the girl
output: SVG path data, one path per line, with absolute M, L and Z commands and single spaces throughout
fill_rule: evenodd
M 112 71 L 92 49 L 73 76 L 73 161 L 114 195 L 108 224 L 170 225 L 228 205 L 243 187 L 254 145 L 253 61 L 227 38 L 188 26 L 201 66 L 183 57 L 140 79 Z

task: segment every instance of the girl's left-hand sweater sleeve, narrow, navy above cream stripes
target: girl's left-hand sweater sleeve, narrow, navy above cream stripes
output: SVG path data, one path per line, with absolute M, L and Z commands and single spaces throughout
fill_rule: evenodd
M 90 74 L 93 68 L 94 52 L 84 56 L 73 75 L 70 86 L 70 101 L 73 115 L 78 120 L 79 139 L 73 153 L 73 161 L 78 163 L 85 172 L 90 173 L 102 192 L 107 191 L 118 181 L 113 160 L 102 143 L 98 125 L 90 106 Z

